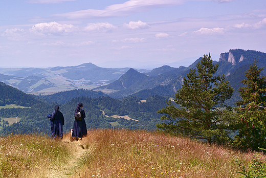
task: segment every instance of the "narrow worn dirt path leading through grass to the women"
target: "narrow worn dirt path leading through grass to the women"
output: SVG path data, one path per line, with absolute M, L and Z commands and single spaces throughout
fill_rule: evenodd
M 69 145 L 73 148 L 73 154 L 71 155 L 69 160 L 66 160 L 66 163 L 61 165 L 51 166 L 49 168 L 49 172 L 47 173 L 47 178 L 65 178 L 65 177 L 73 177 L 75 174 L 75 166 L 78 163 L 81 156 L 90 151 L 90 149 L 83 149 L 81 145 L 83 145 L 83 141 L 70 141 L 64 140 L 62 141 L 64 144 Z

